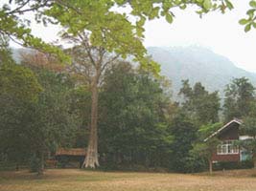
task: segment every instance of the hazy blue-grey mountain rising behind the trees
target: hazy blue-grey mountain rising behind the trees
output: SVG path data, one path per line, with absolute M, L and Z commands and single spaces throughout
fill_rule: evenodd
M 150 47 L 148 52 L 161 65 L 161 73 L 172 80 L 175 98 L 178 98 L 182 79 L 189 79 L 192 85 L 199 81 L 210 92 L 220 91 L 221 98 L 232 78 L 245 76 L 256 85 L 256 74 L 236 67 L 228 58 L 203 47 Z

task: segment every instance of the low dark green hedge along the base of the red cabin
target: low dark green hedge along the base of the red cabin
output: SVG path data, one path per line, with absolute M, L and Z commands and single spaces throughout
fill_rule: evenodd
M 214 170 L 248 169 L 253 167 L 251 160 L 244 161 L 221 161 L 214 163 Z

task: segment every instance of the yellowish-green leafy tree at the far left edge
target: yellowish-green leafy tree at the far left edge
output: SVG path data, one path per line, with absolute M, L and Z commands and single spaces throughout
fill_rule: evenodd
M 2 51 L 3 53 L 4 51 Z M 6 51 L 8 55 L 9 51 Z M 11 57 L 11 54 L 6 56 Z M 29 158 L 30 109 L 38 102 L 42 87 L 35 74 L 11 60 L 0 64 L 0 153 L 18 164 Z

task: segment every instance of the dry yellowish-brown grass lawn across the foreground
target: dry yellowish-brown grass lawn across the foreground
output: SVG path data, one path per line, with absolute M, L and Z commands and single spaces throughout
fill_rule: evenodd
M 183 175 L 106 173 L 52 169 L 37 177 L 27 171 L 0 172 L 1 191 L 255 191 L 256 170 Z

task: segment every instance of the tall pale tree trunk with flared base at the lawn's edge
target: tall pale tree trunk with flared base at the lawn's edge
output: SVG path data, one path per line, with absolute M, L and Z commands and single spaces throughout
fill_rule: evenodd
M 95 77 L 92 87 L 92 103 L 91 103 L 91 127 L 90 137 L 87 147 L 87 153 L 82 166 L 85 168 L 95 168 L 99 166 L 98 160 L 98 135 L 97 135 L 97 121 L 98 121 L 98 85 L 97 78 Z

